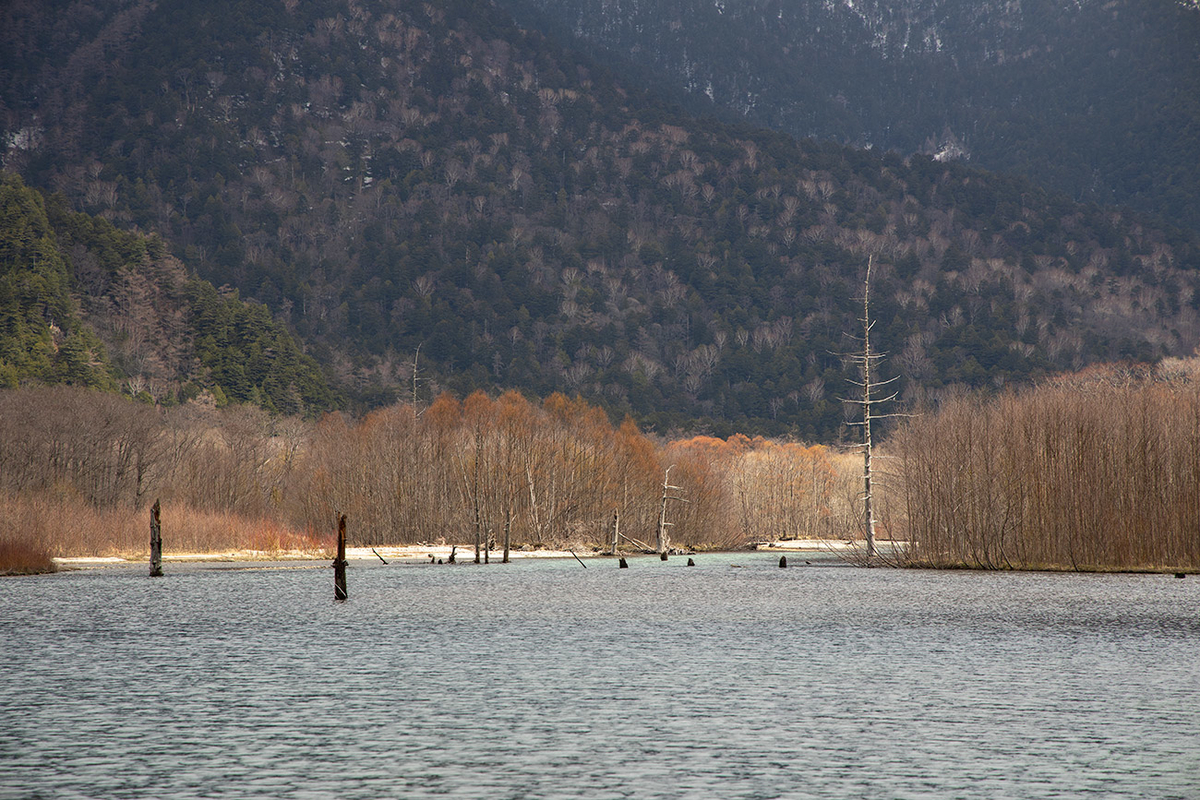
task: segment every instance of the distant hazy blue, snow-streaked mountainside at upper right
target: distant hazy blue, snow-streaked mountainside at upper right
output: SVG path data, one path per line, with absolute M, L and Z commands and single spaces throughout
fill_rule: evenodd
M 694 108 L 970 160 L 1200 229 L 1195 2 L 503 2 Z

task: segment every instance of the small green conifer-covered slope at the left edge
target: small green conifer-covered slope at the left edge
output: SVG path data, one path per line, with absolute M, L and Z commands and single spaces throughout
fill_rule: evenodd
M 283 414 L 335 405 L 320 368 L 260 303 L 188 277 L 161 239 L 44 200 L 0 174 L 0 387 L 202 392 Z

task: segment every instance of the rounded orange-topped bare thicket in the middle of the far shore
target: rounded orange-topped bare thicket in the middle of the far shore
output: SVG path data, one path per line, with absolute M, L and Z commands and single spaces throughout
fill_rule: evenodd
M 482 540 L 600 543 L 613 515 L 644 537 L 656 524 L 658 453 L 632 423 L 562 395 L 534 405 L 442 396 L 359 422 L 326 417 L 307 464 L 304 518 L 335 512 L 378 543 Z M 631 534 L 637 536 L 638 534 Z

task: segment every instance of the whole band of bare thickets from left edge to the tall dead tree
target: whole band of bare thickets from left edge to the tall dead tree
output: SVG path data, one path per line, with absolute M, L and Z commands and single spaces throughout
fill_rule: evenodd
M 163 504 L 168 549 L 352 542 L 649 546 L 664 474 L 676 547 L 845 536 L 845 487 L 822 447 L 734 437 L 658 443 L 581 399 L 516 392 L 311 423 L 248 407 L 161 409 L 79 389 L 0 392 L 0 525 L 54 555 L 140 553 Z M 845 525 L 846 531 L 839 531 Z

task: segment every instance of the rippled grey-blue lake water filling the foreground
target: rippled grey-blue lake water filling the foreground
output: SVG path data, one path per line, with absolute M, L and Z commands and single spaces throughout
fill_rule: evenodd
M 0 798 L 1200 798 L 1200 578 L 697 563 L 4 579 Z

